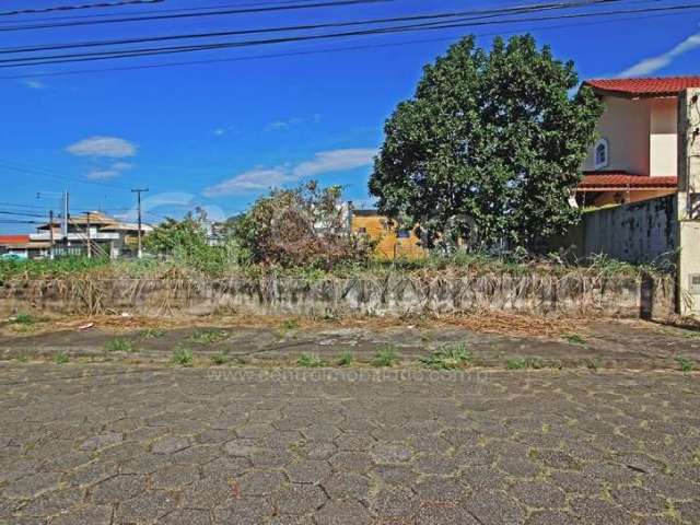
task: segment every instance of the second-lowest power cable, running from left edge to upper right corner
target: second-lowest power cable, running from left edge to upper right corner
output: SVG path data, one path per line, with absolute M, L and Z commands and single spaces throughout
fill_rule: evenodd
M 572 19 L 610 16 L 610 15 L 620 15 L 620 14 L 663 13 L 663 12 L 672 12 L 672 11 L 688 11 L 688 10 L 695 10 L 695 9 L 700 9 L 700 3 L 696 2 L 692 4 L 682 4 L 682 5 L 663 7 L 663 8 L 644 8 L 644 9 L 633 9 L 633 10 L 572 13 L 572 14 L 562 14 L 562 15 L 555 15 L 555 16 L 491 20 L 488 22 L 485 22 L 485 21 L 474 22 L 469 20 L 467 20 L 466 22 L 456 20 L 456 21 L 450 21 L 447 23 L 430 22 L 424 24 L 413 24 L 413 25 L 409 24 L 409 25 L 402 25 L 402 26 L 378 27 L 378 28 L 364 30 L 364 31 L 326 33 L 320 35 L 288 36 L 288 37 L 280 37 L 280 38 L 237 40 L 237 42 L 213 43 L 213 44 L 202 44 L 202 45 L 192 45 L 192 46 L 151 47 L 151 48 L 140 48 L 140 49 L 129 49 L 129 50 L 11 58 L 11 59 L 0 60 L 0 68 L 38 66 L 38 65 L 49 65 L 49 63 L 70 63 L 70 62 L 83 62 L 83 61 L 94 61 L 94 60 L 109 60 L 109 59 L 116 59 L 116 58 L 135 58 L 135 57 L 170 55 L 170 54 L 191 52 L 191 51 L 201 51 L 201 50 L 231 49 L 231 48 L 243 48 L 243 47 L 253 47 L 253 46 L 261 46 L 261 45 L 276 45 L 276 44 L 294 43 L 294 42 L 310 42 L 310 40 L 317 40 L 317 39 L 336 39 L 336 38 L 345 38 L 350 36 L 398 34 L 398 33 L 417 32 L 417 31 L 435 31 L 435 30 L 448 30 L 448 28 L 458 28 L 458 27 L 468 27 L 468 26 L 502 25 L 502 24 L 513 24 L 513 23 L 522 23 L 522 22 L 572 20 Z

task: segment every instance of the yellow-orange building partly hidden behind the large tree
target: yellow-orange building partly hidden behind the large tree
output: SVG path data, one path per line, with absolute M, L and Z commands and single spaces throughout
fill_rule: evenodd
M 420 240 L 411 230 L 396 228 L 396 223 L 380 215 L 376 210 L 353 210 L 351 231 L 355 235 L 366 235 L 376 243 L 374 254 L 381 259 L 416 259 L 425 256 Z

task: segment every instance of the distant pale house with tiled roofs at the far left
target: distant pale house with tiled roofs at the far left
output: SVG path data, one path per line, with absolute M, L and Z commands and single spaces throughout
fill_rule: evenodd
M 68 231 L 63 232 L 61 219 L 42 224 L 36 233 L 28 235 L 0 236 L 0 254 L 21 258 L 44 258 L 52 252 L 56 257 L 86 255 L 117 258 L 136 256 L 138 248 L 138 224 L 121 222 L 100 211 L 71 215 Z M 142 224 L 143 235 L 153 231 Z

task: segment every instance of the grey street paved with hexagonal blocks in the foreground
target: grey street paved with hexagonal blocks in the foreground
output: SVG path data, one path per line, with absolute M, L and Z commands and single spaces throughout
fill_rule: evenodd
M 0 523 L 700 523 L 696 374 L 5 363 L 0 392 Z

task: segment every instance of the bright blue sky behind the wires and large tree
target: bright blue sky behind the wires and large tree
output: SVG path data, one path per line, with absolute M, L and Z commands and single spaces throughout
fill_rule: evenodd
M 10 0 L 13 8 L 90 0 Z M 276 4 L 272 0 L 165 0 L 145 7 L 0 16 L 0 28 L 56 16 L 132 14 L 202 5 Z M 521 5 L 525 1 L 394 0 L 296 12 L 258 13 L 137 24 L 0 32 L 0 47 L 188 32 L 363 20 L 402 14 Z M 626 8 L 654 2 L 628 1 Z M 663 4 L 674 1 L 656 2 Z M 700 10 L 616 22 L 521 23 L 441 32 L 182 54 L 154 58 L 0 70 L 0 210 L 59 210 L 69 190 L 73 213 L 129 213 L 132 187 L 148 187 L 147 220 L 195 206 L 215 217 L 244 210 L 271 185 L 317 178 L 366 200 L 371 160 L 383 122 L 409 97 L 424 63 L 460 35 L 489 46 L 493 33 L 529 30 L 581 78 L 698 73 Z M 559 25 L 558 27 L 548 27 Z M 567 25 L 561 27 L 561 25 Z M 421 42 L 416 42 L 421 40 Z M 370 47 L 372 46 L 372 47 Z M 381 47 L 380 47 L 381 46 Z M 360 47 L 347 50 L 349 47 Z M 339 50 L 346 49 L 346 50 Z M 295 54 L 259 58 L 270 54 Z M 328 50 L 335 50 L 329 52 Z M 255 58 L 258 57 L 258 58 Z M 252 59 L 253 58 L 253 59 Z M 191 60 L 203 65 L 94 71 Z M 230 60 L 235 59 L 235 60 Z M 82 74 L 55 73 L 91 70 Z M 20 78 L 21 77 L 21 78 Z M 37 198 L 37 192 L 42 194 Z M 11 206 L 21 205 L 21 206 Z M 33 230 L 2 215 L 0 233 Z

